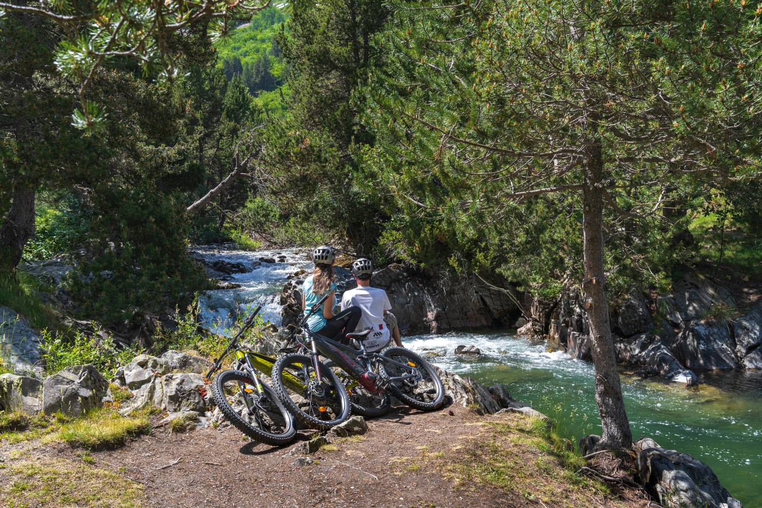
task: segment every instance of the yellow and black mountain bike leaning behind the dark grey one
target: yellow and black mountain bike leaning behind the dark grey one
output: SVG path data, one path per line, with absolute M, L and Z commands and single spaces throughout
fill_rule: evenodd
M 234 368 L 219 372 L 212 382 L 212 396 L 219 411 L 232 425 L 247 436 L 273 446 L 291 443 L 296 437 L 293 417 L 283 406 L 273 389 L 261 381 L 257 370 L 270 374 L 275 359 L 255 351 L 239 347 L 239 340 L 246 330 L 254 324 L 261 311 L 259 305 L 219 358 L 214 359 L 213 367 L 207 372 L 211 379 L 214 372 L 222 366 L 223 359 L 235 357 Z M 299 380 L 286 379 L 290 385 L 299 386 Z

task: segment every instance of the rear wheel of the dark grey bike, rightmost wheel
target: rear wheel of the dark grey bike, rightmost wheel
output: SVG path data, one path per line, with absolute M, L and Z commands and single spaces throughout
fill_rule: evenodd
M 387 347 L 381 352 L 379 370 L 389 378 L 389 389 L 405 404 L 421 411 L 442 406 L 444 387 L 426 360 L 404 347 Z M 408 379 L 397 379 L 412 375 Z

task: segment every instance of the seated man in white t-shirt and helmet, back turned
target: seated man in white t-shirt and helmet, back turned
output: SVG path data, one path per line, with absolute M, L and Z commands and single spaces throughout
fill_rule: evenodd
M 364 341 L 365 349 L 369 353 L 380 350 L 389 343 L 389 337 L 394 339 L 395 345 L 402 347 L 397 318 L 389 312 L 392 305 L 389 304 L 386 291 L 370 286 L 373 264 L 361 257 L 354 260 L 351 271 L 357 287 L 344 292 L 341 308 L 343 310 L 357 306 L 362 309 L 362 317 L 357 323 L 356 331 L 372 330 Z

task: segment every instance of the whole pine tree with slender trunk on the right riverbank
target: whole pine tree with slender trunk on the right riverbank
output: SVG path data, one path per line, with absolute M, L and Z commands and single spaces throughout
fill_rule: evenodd
M 607 304 L 616 221 L 663 220 L 696 184 L 760 174 L 760 9 L 744 5 L 396 2 L 379 47 L 366 160 L 399 206 L 464 224 L 456 235 L 553 200 L 581 211 L 602 447 L 632 439 Z

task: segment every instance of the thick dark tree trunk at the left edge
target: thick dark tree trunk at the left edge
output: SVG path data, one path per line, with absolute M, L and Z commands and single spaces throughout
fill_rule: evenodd
M 13 204 L 0 227 L 0 271 L 11 271 L 21 262 L 24 245 L 34 235 L 34 188 L 16 184 Z

